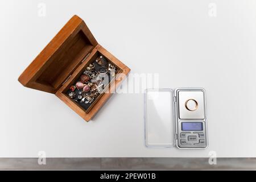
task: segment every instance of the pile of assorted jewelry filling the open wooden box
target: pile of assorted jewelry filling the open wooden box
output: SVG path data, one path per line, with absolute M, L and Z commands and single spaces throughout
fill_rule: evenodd
M 70 86 L 67 95 L 85 110 L 104 92 L 106 86 L 115 77 L 117 68 L 100 55 L 86 67 L 79 79 Z

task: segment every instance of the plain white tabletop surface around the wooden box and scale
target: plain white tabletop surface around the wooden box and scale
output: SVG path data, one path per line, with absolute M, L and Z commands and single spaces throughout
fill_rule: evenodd
M 143 94 L 115 94 L 86 123 L 53 94 L 19 84 L 74 14 L 131 73 L 207 90 L 207 150 L 144 147 Z M 256 157 L 256 1 L 1 1 L 0 20 L 0 157 Z

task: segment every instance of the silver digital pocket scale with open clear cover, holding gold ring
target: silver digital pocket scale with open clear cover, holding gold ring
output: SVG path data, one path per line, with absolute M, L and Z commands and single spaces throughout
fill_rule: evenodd
M 146 89 L 144 129 L 147 147 L 206 148 L 205 90 Z

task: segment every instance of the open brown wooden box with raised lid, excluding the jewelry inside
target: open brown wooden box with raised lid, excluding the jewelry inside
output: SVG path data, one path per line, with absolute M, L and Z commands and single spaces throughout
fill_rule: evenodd
M 100 94 L 89 109 L 85 110 L 69 98 L 67 90 L 76 84 L 77 78 L 100 55 L 116 67 L 117 73 L 122 74 L 115 75 L 108 84 L 109 92 Z M 55 94 L 85 121 L 89 121 L 129 72 L 130 69 L 125 64 L 97 43 L 85 22 L 74 15 L 28 65 L 18 80 L 28 88 Z

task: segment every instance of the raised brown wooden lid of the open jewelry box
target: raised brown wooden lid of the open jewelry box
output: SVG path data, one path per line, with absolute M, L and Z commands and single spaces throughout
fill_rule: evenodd
M 28 65 L 18 80 L 29 88 L 56 93 L 97 44 L 84 21 L 75 15 Z

